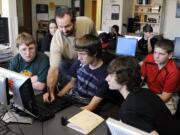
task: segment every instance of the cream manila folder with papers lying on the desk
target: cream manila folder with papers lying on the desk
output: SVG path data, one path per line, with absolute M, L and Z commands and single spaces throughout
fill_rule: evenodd
M 102 117 L 85 109 L 68 119 L 69 123 L 67 124 L 67 127 L 83 134 L 89 134 L 103 121 L 104 119 Z

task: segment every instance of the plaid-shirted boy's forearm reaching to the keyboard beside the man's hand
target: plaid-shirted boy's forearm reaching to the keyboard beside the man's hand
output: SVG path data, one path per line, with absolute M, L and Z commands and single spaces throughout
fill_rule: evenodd
M 75 85 L 75 79 L 71 79 L 64 88 L 58 93 L 58 96 L 63 97 L 66 93 L 68 93 Z

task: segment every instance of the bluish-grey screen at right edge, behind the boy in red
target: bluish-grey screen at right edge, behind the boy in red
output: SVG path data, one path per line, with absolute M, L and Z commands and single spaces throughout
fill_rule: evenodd
M 175 37 L 173 57 L 180 59 L 180 37 Z

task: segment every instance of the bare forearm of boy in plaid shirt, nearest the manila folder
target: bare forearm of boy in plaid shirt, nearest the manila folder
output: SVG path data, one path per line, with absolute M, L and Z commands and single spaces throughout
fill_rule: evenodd
M 96 107 L 99 105 L 99 103 L 101 102 L 102 98 L 94 96 L 90 103 L 86 106 L 81 107 L 82 109 L 87 109 L 89 111 L 93 111 L 94 109 L 96 109 Z

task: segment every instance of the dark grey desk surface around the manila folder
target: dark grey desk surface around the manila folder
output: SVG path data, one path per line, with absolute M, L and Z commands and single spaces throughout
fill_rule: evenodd
M 78 113 L 80 108 L 71 106 L 56 113 L 55 117 L 45 121 L 39 122 L 35 120 L 32 125 L 20 124 L 20 128 L 24 132 L 24 135 L 83 135 L 71 128 L 61 125 L 61 117 L 66 116 L 70 118 L 74 114 Z M 9 124 L 10 129 L 20 134 L 18 129 L 18 124 Z M 13 133 L 8 133 L 7 135 L 14 135 Z M 21 134 L 20 134 L 21 135 Z M 106 124 L 103 122 L 95 130 L 92 131 L 90 135 L 107 135 Z

